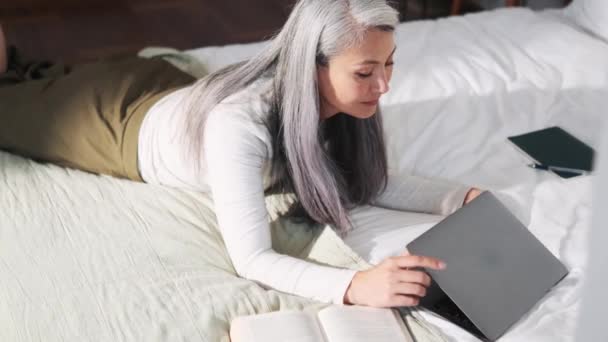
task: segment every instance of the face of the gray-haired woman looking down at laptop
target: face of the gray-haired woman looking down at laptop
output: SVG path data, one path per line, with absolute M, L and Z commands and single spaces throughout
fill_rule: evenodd
M 365 119 L 378 111 L 378 100 L 388 91 L 393 72 L 395 42 L 392 32 L 367 31 L 363 42 L 319 66 L 321 120 L 337 113 Z

